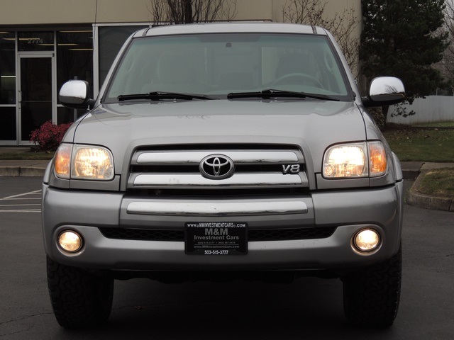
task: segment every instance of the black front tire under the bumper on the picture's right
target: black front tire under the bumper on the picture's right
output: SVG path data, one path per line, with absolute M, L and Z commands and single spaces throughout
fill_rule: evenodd
M 345 317 L 355 326 L 392 326 L 399 308 L 402 249 L 391 259 L 342 278 Z

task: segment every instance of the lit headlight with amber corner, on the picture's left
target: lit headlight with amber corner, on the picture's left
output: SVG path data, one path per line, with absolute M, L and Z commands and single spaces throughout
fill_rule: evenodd
M 60 179 L 109 181 L 114 178 L 114 158 L 104 147 L 62 144 L 55 153 L 55 175 Z

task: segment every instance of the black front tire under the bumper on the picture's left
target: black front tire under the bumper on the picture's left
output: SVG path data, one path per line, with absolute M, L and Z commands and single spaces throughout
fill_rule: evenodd
M 109 319 L 114 279 L 65 266 L 49 257 L 47 263 L 50 301 L 60 326 L 96 327 Z

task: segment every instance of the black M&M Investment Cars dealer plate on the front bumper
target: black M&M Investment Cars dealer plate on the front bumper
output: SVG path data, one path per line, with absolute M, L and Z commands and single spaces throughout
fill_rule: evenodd
M 248 254 L 247 227 L 244 222 L 187 222 L 184 251 L 188 255 Z

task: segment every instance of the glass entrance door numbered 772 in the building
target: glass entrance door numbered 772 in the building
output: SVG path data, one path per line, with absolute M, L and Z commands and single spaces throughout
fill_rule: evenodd
M 29 144 L 31 132 L 53 117 L 53 55 L 20 55 L 19 64 L 18 140 Z

